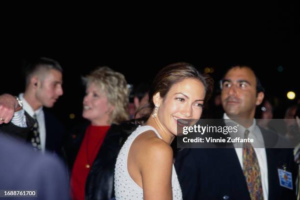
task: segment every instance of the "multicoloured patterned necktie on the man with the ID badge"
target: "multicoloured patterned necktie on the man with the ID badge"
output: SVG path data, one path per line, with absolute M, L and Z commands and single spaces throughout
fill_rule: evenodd
M 248 138 L 249 130 L 245 131 Z M 252 145 L 249 142 L 243 144 L 243 172 L 247 181 L 251 200 L 263 200 L 261 174 L 258 160 Z

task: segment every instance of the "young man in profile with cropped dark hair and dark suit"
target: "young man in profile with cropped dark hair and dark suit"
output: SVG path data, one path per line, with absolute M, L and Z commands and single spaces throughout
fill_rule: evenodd
M 62 68 L 52 59 L 40 58 L 26 68 L 25 80 L 25 92 L 19 98 L 23 109 L 37 120 L 28 141 L 42 152 L 59 153 L 64 128 L 44 107 L 52 108 L 63 94 Z

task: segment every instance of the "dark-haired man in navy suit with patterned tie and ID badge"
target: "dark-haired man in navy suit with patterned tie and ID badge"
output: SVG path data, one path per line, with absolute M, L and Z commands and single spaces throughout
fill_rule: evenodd
M 221 85 L 224 119 L 242 127 L 244 132 L 239 136 L 261 138 L 265 147 L 271 147 L 270 142 L 275 144 L 269 139 L 276 141 L 278 135 L 259 128 L 254 119 L 255 108 L 264 98 L 254 71 L 247 66 L 231 67 Z M 184 149 L 178 153 L 175 167 L 184 200 L 296 199 L 297 166 L 291 149 L 253 148 L 251 145 Z M 292 187 L 280 184 L 287 180 L 279 178 L 279 171 L 286 177 L 291 175 Z

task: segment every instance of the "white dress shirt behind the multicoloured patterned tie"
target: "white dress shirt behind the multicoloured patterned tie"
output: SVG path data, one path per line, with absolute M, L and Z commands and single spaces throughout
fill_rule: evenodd
M 226 113 L 223 115 L 224 119 L 230 119 Z M 254 152 L 256 154 L 258 164 L 259 164 L 259 170 L 261 174 L 261 183 L 262 183 L 262 189 L 263 189 L 263 196 L 264 200 L 268 200 L 269 197 L 269 183 L 268 183 L 268 163 L 267 163 L 267 155 L 266 155 L 266 149 L 264 148 L 264 140 L 262 133 L 259 129 L 259 127 L 256 125 L 256 120 L 253 118 L 253 123 L 252 125 L 247 128 L 250 133 L 249 133 L 249 138 L 253 139 L 254 142 L 251 144 L 253 146 Z M 243 127 L 242 125 L 239 124 L 237 133 L 230 133 L 231 137 L 240 137 L 244 138 L 244 133 L 246 131 L 246 128 Z M 241 167 L 243 169 L 243 144 L 235 144 L 234 145 L 235 152 L 239 158 Z M 259 147 L 259 148 L 254 148 L 254 147 Z

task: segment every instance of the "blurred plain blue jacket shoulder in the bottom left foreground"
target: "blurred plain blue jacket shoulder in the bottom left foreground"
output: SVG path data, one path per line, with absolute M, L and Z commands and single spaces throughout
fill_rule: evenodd
M 0 190 L 37 190 L 26 200 L 69 199 L 67 173 L 56 157 L 0 134 L 0 163 Z

